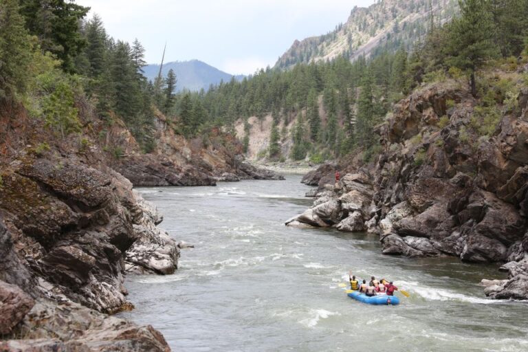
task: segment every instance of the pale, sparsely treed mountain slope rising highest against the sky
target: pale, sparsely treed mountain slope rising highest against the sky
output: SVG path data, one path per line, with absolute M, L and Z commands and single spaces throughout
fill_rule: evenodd
M 275 67 L 289 68 L 297 63 L 333 60 L 344 56 L 376 56 L 411 50 L 434 26 L 458 13 L 456 0 L 382 0 L 369 8 L 355 7 L 346 23 L 322 35 L 295 41 Z

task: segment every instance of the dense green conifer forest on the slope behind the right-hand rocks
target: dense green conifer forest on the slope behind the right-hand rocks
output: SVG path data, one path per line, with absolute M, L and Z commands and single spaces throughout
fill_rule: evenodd
M 380 47 L 373 58 L 359 56 L 350 61 L 337 56 L 329 62 L 297 64 L 287 71 L 261 70 L 242 82 L 232 80 L 206 93 L 179 94 L 176 111 L 184 126 L 190 126 L 187 133 L 191 135 L 197 126 L 214 124 L 232 131 L 236 120 L 253 116 L 264 121 L 271 115 L 270 137 L 259 151 L 261 157 L 308 156 L 320 162 L 362 151 L 369 161 L 379 151 L 376 126 L 412 89 L 456 77 L 467 79 L 477 96 L 482 94 L 477 87 L 478 69 L 516 60 L 525 47 L 525 0 L 464 1 L 461 6 L 470 7 L 463 10 L 463 17 L 443 25 L 431 21 L 421 41 L 421 32 L 410 32 L 406 38 L 417 41 L 410 52 L 405 45 L 394 53 L 392 48 Z M 244 133 L 239 128 L 246 147 L 254 128 L 248 123 Z M 291 148 L 281 155 L 281 145 L 286 143 Z

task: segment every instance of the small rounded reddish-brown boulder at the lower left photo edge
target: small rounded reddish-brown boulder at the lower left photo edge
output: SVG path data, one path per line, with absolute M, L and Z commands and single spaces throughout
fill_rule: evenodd
M 32 309 L 35 301 L 18 286 L 0 281 L 0 335 L 7 335 Z

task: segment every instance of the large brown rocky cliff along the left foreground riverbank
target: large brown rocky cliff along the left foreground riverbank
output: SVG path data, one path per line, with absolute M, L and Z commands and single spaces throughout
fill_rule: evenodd
M 106 315 L 133 308 L 125 272 L 170 274 L 179 248 L 109 167 L 96 120 L 63 138 L 0 111 L 0 350 L 168 351 L 152 327 Z

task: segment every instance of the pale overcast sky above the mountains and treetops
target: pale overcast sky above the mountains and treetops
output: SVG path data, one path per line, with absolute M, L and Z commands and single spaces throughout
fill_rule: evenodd
M 295 39 L 325 34 L 373 0 L 77 0 L 115 39 L 135 38 L 146 61 L 204 61 L 229 74 L 273 66 Z

